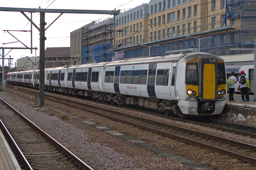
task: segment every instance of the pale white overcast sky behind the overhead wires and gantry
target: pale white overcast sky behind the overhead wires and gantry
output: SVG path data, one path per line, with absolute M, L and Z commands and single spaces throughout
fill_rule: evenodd
M 121 12 L 125 12 L 143 3 L 148 3 L 150 0 L 1 0 L 0 7 L 11 8 L 35 8 L 38 9 L 84 9 L 84 10 L 116 10 L 120 9 Z M 70 3 L 72 2 L 72 3 Z M 25 12 L 30 18 L 30 13 Z M 59 13 L 45 14 L 45 22 L 50 25 L 57 17 Z M 70 32 L 81 28 L 82 26 L 92 21 L 102 21 L 111 17 L 110 15 L 102 14 L 63 14 L 57 19 L 46 31 L 45 37 L 45 49 L 47 47 L 69 47 L 70 46 Z M 21 32 L 20 30 L 30 31 L 30 22 L 20 12 L 3 12 L 0 11 L 0 46 L 1 47 L 31 47 L 30 32 Z M 40 15 L 39 13 L 32 13 L 33 22 L 40 27 Z M 3 30 L 15 30 L 7 31 Z M 18 40 L 20 42 L 17 42 Z M 22 44 L 22 43 L 23 44 Z M 33 50 L 31 54 L 29 49 L 5 49 L 5 58 L 13 58 L 12 67 L 15 66 L 17 59 L 25 56 L 39 56 L 39 31 L 32 27 L 32 47 L 37 47 L 37 50 Z M 8 53 L 8 54 L 7 54 Z M 2 49 L 0 49 L 2 56 Z M 2 58 L 2 57 L 1 57 Z M 4 62 L 5 66 L 8 66 L 8 60 Z M 2 66 L 2 59 L 0 61 Z

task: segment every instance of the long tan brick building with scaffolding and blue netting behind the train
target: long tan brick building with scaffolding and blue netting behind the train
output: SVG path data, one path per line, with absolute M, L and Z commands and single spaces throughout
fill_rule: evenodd
M 110 49 L 124 51 L 124 58 L 190 48 L 217 56 L 251 53 L 230 49 L 254 48 L 255 15 L 253 0 L 151 0 L 116 15 L 115 21 L 85 25 L 77 48 L 83 63 L 112 60 Z

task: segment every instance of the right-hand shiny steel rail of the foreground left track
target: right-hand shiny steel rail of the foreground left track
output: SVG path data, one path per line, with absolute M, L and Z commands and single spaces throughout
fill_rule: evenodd
M 18 110 L 16 110 L 14 107 L 9 105 L 7 102 L 5 102 L 2 98 L 0 100 L 8 106 L 13 112 L 18 114 L 21 118 L 23 118 L 25 121 L 28 122 L 34 129 L 36 129 L 39 133 L 44 135 L 47 139 L 49 139 L 51 142 L 53 142 L 58 148 L 60 148 L 62 151 L 64 151 L 72 160 L 74 160 L 79 166 L 81 166 L 83 169 L 86 170 L 93 170 L 90 166 L 88 166 L 86 163 L 84 163 L 82 160 L 76 157 L 72 152 L 70 152 L 68 149 L 66 149 L 64 146 L 62 146 L 58 141 L 53 139 L 51 136 L 49 136 L 46 132 L 44 132 L 42 129 L 40 129 L 37 125 L 35 125 L 33 122 L 31 122 L 27 117 L 23 116 Z

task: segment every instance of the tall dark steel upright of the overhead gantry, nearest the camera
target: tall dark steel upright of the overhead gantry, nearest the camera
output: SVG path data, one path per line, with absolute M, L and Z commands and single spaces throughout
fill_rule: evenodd
M 40 13 L 40 85 L 39 107 L 44 107 L 44 35 L 45 35 L 45 12 Z

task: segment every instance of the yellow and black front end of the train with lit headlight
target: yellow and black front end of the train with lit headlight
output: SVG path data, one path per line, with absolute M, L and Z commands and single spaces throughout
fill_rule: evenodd
M 226 100 L 226 71 L 218 57 L 203 56 L 186 63 L 187 99 L 179 100 L 183 114 L 221 114 Z

